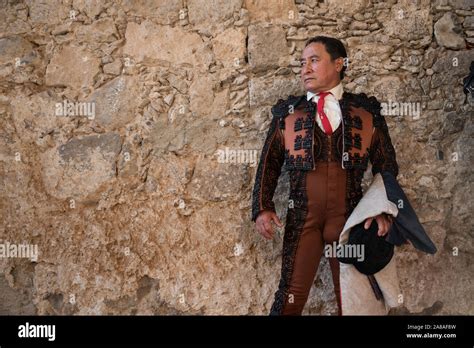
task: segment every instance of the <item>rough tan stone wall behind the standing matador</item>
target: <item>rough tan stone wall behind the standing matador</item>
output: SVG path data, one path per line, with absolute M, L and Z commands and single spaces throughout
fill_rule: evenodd
M 439 252 L 398 248 L 394 314 L 474 314 L 470 0 L 0 7 L 0 242 L 38 251 L 0 258 L 1 314 L 267 314 L 282 238 L 250 221 L 255 160 L 318 34 L 347 45 L 346 90 L 421 108 L 386 118 Z M 323 259 L 304 313 L 335 311 Z

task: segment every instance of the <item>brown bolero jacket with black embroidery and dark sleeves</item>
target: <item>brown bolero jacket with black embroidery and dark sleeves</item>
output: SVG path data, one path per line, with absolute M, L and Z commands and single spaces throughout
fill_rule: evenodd
M 344 92 L 339 104 L 343 120 L 331 136 L 316 124 L 317 106 L 305 95 L 291 95 L 272 107 L 253 190 L 253 221 L 262 210 L 275 211 L 273 194 L 282 168 L 291 178 L 314 170 L 320 160 L 339 160 L 348 174 L 347 216 L 362 197 L 361 181 L 369 161 L 373 175 L 389 171 L 397 177 L 395 150 L 377 99 Z

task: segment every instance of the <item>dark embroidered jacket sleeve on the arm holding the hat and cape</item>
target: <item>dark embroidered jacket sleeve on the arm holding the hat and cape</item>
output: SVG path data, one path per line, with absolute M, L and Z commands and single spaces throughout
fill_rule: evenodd
M 380 105 L 378 102 L 377 104 Z M 380 114 L 380 107 L 375 108 L 373 112 L 375 131 L 369 152 L 372 174 L 388 171 L 396 178 L 398 175 L 397 156 L 390 139 L 387 123 Z

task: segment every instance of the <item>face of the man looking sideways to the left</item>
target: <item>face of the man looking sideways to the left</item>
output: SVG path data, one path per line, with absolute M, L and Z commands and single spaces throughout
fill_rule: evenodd
M 301 82 L 304 89 L 313 93 L 327 91 L 341 81 L 339 72 L 344 59 L 331 60 L 324 44 L 313 42 L 306 46 L 301 55 Z

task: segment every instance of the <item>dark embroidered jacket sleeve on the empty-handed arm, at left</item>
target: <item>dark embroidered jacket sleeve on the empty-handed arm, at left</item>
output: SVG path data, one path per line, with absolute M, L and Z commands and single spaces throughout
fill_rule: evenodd
M 281 167 L 285 161 L 285 145 L 278 117 L 273 117 L 257 167 L 252 195 L 252 221 L 262 210 L 275 212 L 273 194 L 278 184 Z

